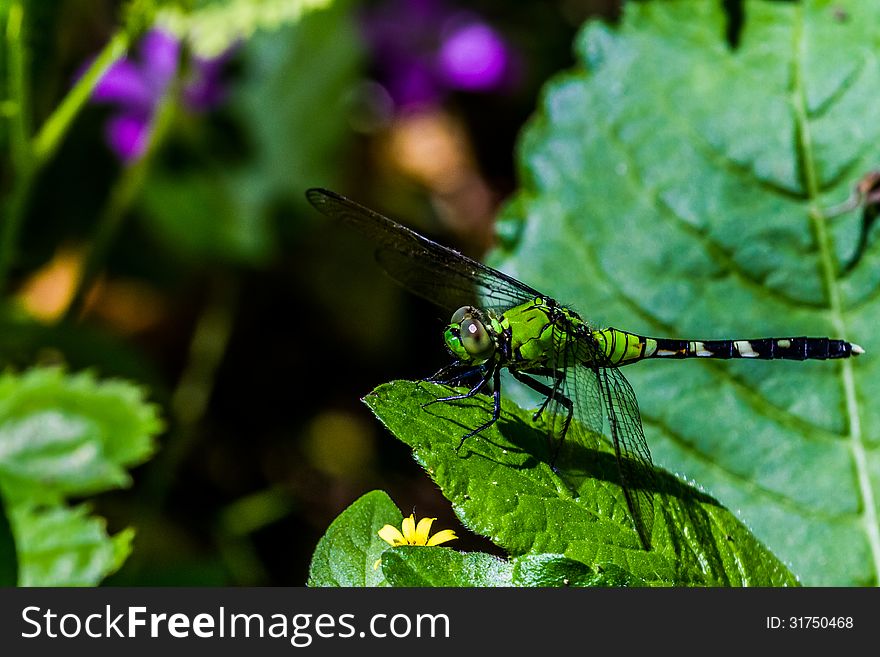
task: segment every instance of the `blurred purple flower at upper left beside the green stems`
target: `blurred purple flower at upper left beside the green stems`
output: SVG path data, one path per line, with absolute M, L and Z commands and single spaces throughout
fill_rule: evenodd
M 137 61 L 131 56 L 116 62 L 98 81 L 92 100 L 112 103 L 118 113 L 107 122 L 107 142 L 126 163 L 139 159 L 149 143 L 150 127 L 159 102 L 178 73 L 180 42 L 152 29 L 144 35 Z M 193 58 L 191 78 L 183 88 L 184 104 L 205 110 L 222 100 L 221 73 L 227 59 Z

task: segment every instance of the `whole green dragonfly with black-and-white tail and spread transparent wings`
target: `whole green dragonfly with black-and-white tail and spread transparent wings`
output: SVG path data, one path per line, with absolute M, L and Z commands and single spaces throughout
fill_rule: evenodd
M 533 422 L 543 416 L 554 471 L 563 440 L 598 449 L 608 427 L 621 489 L 645 550 L 651 549 L 657 484 L 636 395 L 622 366 L 652 358 L 826 360 L 864 353 L 857 344 L 826 337 L 682 340 L 594 328 L 552 297 L 345 196 L 312 188 L 306 198 L 372 240 L 391 278 L 452 313 L 444 342 L 453 361 L 427 380 L 469 387 L 429 404 L 492 396 L 491 415 L 464 434 L 458 448 L 501 417 L 501 373 L 507 370 L 543 397 Z

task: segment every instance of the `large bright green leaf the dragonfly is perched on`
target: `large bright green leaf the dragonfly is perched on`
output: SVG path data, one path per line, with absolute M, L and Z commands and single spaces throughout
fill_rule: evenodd
M 428 383 L 395 381 L 364 401 L 452 502 L 461 521 L 511 555 L 553 553 L 609 565 L 652 585 L 793 585 L 796 580 L 726 509 L 674 476 L 658 472 L 652 550 L 639 543 L 609 445 L 596 452 L 566 443 L 560 473 L 548 465 L 544 432 L 529 411 L 502 403 L 502 418 L 458 451 L 461 437 L 488 417 L 491 401 L 426 402 L 448 394 Z

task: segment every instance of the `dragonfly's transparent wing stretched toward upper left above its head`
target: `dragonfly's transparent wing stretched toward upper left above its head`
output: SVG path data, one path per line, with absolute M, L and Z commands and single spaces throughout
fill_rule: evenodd
M 541 296 L 515 278 L 335 192 L 310 189 L 306 198 L 318 211 L 373 240 L 378 247 L 376 259 L 394 280 L 449 311 L 465 305 L 503 311 Z

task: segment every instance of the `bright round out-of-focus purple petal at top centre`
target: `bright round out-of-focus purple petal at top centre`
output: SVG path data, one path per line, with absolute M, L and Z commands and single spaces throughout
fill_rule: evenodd
M 451 86 L 484 90 L 504 81 L 507 47 L 501 37 L 484 23 L 456 28 L 443 42 L 438 65 Z

